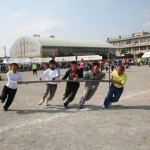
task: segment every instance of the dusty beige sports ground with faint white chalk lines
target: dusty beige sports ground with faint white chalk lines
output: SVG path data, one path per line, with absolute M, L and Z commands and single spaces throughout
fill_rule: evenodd
M 100 84 L 80 111 L 84 83 L 67 110 L 62 107 L 65 83 L 58 84 L 48 107 L 38 105 L 45 83 L 19 85 L 10 111 L 4 112 L 0 104 L 0 150 L 149 150 L 150 67 L 132 67 L 126 73 L 120 101 L 106 110 L 100 105 L 107 83 Z M 38 78 L 32 72 L 22 75 L 27 80 Z M 0 81 L 0 91 L 5 83 Z

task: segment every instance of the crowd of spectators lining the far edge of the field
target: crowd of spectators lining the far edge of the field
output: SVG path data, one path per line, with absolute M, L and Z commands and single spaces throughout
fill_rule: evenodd
M 99 60 L 97 61 L 100 63 L 100 68 L 101 71 L 103 69 L 108 70 L 108 66 L 111 66 L 111 70 L 114 69 L 114 67 L 118 65 L 123 65 L 126 68 L 137 65 L 137 66 L 142 66 L 142 65 L 149 65 L 150 66 L 150 58 L 118 58 L 118 59 L 113 59 L 113 60 Z M 81 61 L 78 63 L 79 67 L 81 70 L 91 70 L 93 61 L 84 61 L 81 59 Z M 110 63 L 110 64 L 109 64 Z M 35 64 L 35 63 L 33 63 Z M 26 64 L 18 64 L 19 66 L 19 71 L 31 71 L 33 70 L 33 64 L 32 63 L 26 63 Z M 36 63 L 37 70 L 46 70 L 49 65 L 48 63 Z M 56 63 L 56 66 L 60 69 L 67 69 L 70 68 L 70 62 L 58 62 Z M 10 71 L 10 65 L 9 64 L 1 64 L 0 65 L 0 72 L 8 72 Z

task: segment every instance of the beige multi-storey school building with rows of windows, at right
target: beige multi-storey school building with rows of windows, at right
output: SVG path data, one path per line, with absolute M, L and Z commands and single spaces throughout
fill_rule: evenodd
M 131 36 L 119 38 L 107 38 L 107 42 L 116 46 L 116 55 L 121 56 L 122 51 L 131 54 L 140 54 L 150 51 L 150 33 L 149 32 L 137 32 Z

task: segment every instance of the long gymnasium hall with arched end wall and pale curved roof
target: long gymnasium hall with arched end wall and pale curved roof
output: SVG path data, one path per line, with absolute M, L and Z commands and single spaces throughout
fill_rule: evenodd
M 33 37 L 24 36 L 17 39 L 10 49 L 10 57 L 79 56 L 98 55 L 108 52 L 115 55 L 116 47 L 107 42 L 60 39 L 54 36 L 41 37 L 40 35 L 34 35 Z

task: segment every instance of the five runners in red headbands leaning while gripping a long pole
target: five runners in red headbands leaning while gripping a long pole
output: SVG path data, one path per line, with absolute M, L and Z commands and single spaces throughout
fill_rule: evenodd
M 14 97 L 17 92 L 18 84 L 28 83 L 23 81 L 21 73 L 18 72 L 18 65 L 16 63 L 11 64 L 11 71 L 7 73 L 8 81 L 2 89 L 0 100 L 2 103 L 5 102 L 3 109 L 7 111 L 12 104 Z M 92 69 L 83 74 L 83 71 L 78 68 L 78 63 L 72 61 L 70 63 L 70 68 L 66 71 L 65 75 L 61 78 L 61 73 L 59 68 L 56 67 L 55 60 L 49 61 L 49 68 L 46 69 L 43 74 L 40 75 L 38 83 L 42 82 L 46 78 L 45 91 L 43 93 L 42 100 L 39 105 L 43 103 L 48 106 L 48 102 L 53 99 L 57 84 L 60 81 L 66 81 L 66 88 L 62 100 L 64 101 L 64 108 L 68 108 L 69 103 L 71 103 L 80 86 L 80 81 L 85 81 L 85 88 L 83 95 L 79 101 L 79 109 L 84 107 L 86 101 L 90 100 L 95 94 L 100 82 L 105 78 L 105 73 L 100 71 L 100 65 L 97 62 L 92 64 Z M 109 82 L 111 82 L 107 96 L 105 97 L 102 108 L 109 108 L 113 102 L 117 102 L 123 93 L 124 85 L 127 80 L 127 75 L 125 73 L 124 66 L 118 66 L 117 69 L 111 73 Z

